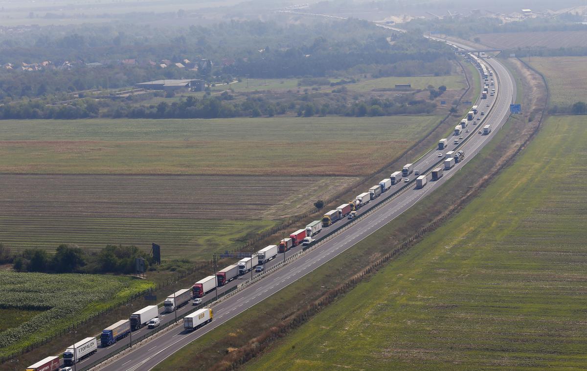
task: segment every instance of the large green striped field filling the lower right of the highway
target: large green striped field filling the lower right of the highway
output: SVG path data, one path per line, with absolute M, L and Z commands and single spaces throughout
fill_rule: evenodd
M 581 369 L 587 127 L 552 117 L 450 222 L 247 369 Z

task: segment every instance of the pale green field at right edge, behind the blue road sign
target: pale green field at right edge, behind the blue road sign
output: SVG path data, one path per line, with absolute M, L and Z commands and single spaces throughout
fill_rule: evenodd
M 532 57 L 530 65 L 546 78 L 549 106 L 587 102 L 587 57 Z

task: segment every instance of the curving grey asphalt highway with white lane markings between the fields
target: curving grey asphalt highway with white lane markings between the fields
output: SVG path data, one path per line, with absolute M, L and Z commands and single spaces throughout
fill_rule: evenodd
M 480 123 L 477 125 L 470 123 L 468 125 L 470 132 L 465 133 L 463 131 L 464 138 L 463 140 L 460 140 L 461 143 L 458 144 L 458 150 L 463 150 L 465 152 L 465 158 L 463 161 L 457 163 L 454 168 L 445 171 L 444 176 L 440 178 L 440 180 L 429 181 L 429 183 L 427 183 L 423 188 L 416 189 L 414 184 L 415 177 L 412 174 L 410 176 L 409 187 L 407 187 L 406 190 L 397 194 L 393 198 L 390 197 L 394 191 L 397 191 L 406 185 L 405 183 L 396 184 L 382 196 L 367 204 L 366 207 L 360 208 L 358 213 L 363 214 L 367 210 L 372 210 L 373 208 L 376 208 L 377 210 L 372 211 L 372 213 L 369 213 L 365 217 L 359 218 L 356 221 L 345 219 L 336 222 L 331 227 L 323 228 L 321 233 L 326 234 L 333 228 L 339 228 L 340 225 L 352 222 L 351 227 L 338 232 L 338 234 L 336 234 L 334 237 L 319 245 L 318 248 L 309 250 L 306 254 L 303 254 L 301 258 L 286 264 L 283 268 L 277 270 L 276 272 L 266 275 L 265 278 L 254 282 L 251 286 L 248 286 L 242 291 L 239 291 L 236 294 L 221 300 L 216 305 L 213 305 L 212 308 L 214 309 L 214 321 L 208 325 L 201 329 L 195 330 L 194 332 L 184 332 L 180 321 L 178 326 L 172 326 L 170 329 L 165 330 L 155 338 L 146 340 L 143 343 L 133 346 L 133 348 L 130 350 L 120 353 L 120 355 L 114 357 L 112 362 L 105 362 L 102 365 L 95 367 L 95 369 L 104 368 L 108 370 L 126 371 L 151 369 L 163 359 L 172 355 L 178 349 L 181 349 L 188 343 L 194 341 L 217 326 L 220 326 L 222 323 L 228 321 L 234 316 L 237 316 L 246 309 L 251 308 L 251 306 L 254 306 L 272 294 L 275 294 L 275 292 L 278 292 L 282 288 L 291 284 L 296 279 L 299 279 L 309 272 L 312 272 L 314 269 L 325 264 L 330 259 L 346 251 L 346 249 L 352 247 L 357 242 L 377 231 L 380 227 L 383 227 L 383 225 L 387 224 L 387 222 L 392 221 L 398 215 L 402 214 L 412 205 L 417 203 L 417 201 L 419 201 L 421 198 L 425 197 L 427 194 L 434 191 L 438 186 L 447 181 L 454 173 L 456 173 L 456 171 L 467 164 L 468 161 L 470 161 L 471 158 L 473 158 L 483 148 L 483 146 L 488 143 L 489 140 L 491 140 L 495 133 L 497 133 L 497 131 L 501 128 L 502 124 L 505 123 L 510 114 L 510 103 L 512 103 L 512 99 L 515 97 L 514 80 L 497 60 L 489 59 L 485 60 L 485 63 L 490 65 L 494 71 L 493 77 L 495 79 L 496 95 L 495 97 L 488 97 L 488 99 L 484 100 L 478 99 L 477 102 L 475 102 L 475 104 L 477 104 L 479 107 L 479 113 L 483 110 L 486 114 L 484 116 L 480 116 L 478 113 L 476 116 L 483 117 L 483 119 L 480 120 Z M 485 107 L 486 104 L 490 104 L 490 107 Z M 460 119 L 454 121 L 454 124 L 456 125 L 460 122 Z M 474 120 L 474 122 L 477 122 L 477 120 Z M 480 130 L 480 128 L 485 124 L 491 124 L 491 133 L 489 135 L 478 134 L 477 131 Z M 415 162 L 414 169 L 424 171 L 427 168 L 433 166 L 433 164 L 437 163 L 437 161 L 443 160 L 444 154 L 447 151 L 455 150 L 457 148 L 457 145 L 453 144 L 453 140 L 456 138 L 458 137 L 447 137 L 449 143 L 446 149 L 443 151 L 429 151 Z M 438 157 L 439 153 L 443 155 L 443 158 Z M 366 185 L 365 190 L 357 191 L 357 194 L 366 191 L 368 188 L 370 188 L 370 186 Z M 300 249 L 301 247 L 291 249 L 286 253 L 286 257 L 296 254 Z M 278 262 L 283 261 L 283 259 L 284 255 L 278 254 L 276 259 L 266 264 L 266 268 L 271 268 L 273 265 L 278 264 Z M 248 274 L 244 275 L 240 279 L 232 281 L 230 284 L 219 288 L 219 292 L 224 292 L 227 289 L 232 288 L 234 285 L 241 284 L 248 278 L 250 278 Z M 204 301 L 212 298 L 214 295 L 215 292 L 212 291 L 210 294 L 205 296 Z M 136 310 L 140 308 L 133 309 Z M 180 308 L 177 312 L 177 315 L 180 316 L 182 313 L 187 312 L 190 309 L 192 309 L 191 305 Z M 175 316 L 176 313 L 169 313 L 164 315 L 162 314 L 160 318 L 162 322 L 167 322 L 172 321 Z M 132 335 L 134 338 L 136 336 L 141 336 L 146 332 L 147 329 L 143 328 L 133 332 Z M 77 363 L 77 368 L 79 369 L 80 367 L 83 367 L 99 359 L 100 357 L 107 355 L 113 350 L 126 345 L 129 340 L 129 338 L 124 338 L 112 346 L 107 348 L 99 348 L 99 351 L 95 355 Z

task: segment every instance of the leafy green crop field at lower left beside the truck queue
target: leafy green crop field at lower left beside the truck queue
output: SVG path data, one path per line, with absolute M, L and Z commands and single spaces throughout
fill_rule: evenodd
M 29 321 L 14 323 L 0 332 L 0 356 L 6 356 L 110 305 L 122 303 L 152 284 L 126 276 L 0 270 L 0 286 L 1 308 L 39 311 Z

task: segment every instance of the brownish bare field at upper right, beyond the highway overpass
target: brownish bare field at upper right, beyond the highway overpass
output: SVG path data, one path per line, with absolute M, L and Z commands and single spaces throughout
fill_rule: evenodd
M 569 48 L 587 46 L 587 31 L 499 32 L 476 35 L 491 48 Z

